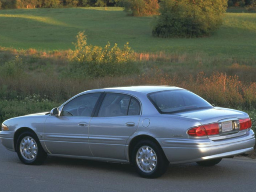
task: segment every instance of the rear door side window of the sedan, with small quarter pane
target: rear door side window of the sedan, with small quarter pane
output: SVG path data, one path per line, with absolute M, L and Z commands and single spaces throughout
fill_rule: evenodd
M 114 117 L 140 114 L 138 101 L 126 94 L 107 93 L 102 101 L 98 117 Z

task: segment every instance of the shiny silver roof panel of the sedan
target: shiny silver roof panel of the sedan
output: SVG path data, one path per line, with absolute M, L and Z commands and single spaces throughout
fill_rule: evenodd
M 165 91 L 165 90 L 183 90 L 179 87 L 174 86 L 159 86 L 159 85 L 138 85 L 138 86 L 122 86 L 122 87 L 110 87 L 102 88 L 90 91 L 106 91 L 106 92 L 140 92 L 144 94 Z

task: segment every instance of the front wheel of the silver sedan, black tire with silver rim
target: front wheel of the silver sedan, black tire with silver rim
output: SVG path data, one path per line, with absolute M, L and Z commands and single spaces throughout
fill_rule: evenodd
M 33 132 L 23 132 L 16 142 L 16 152 L 24 164 L 39 165 L 47 157 L 38 137 Z

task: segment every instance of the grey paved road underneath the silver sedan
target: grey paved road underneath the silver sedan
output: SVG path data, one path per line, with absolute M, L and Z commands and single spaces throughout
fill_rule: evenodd
M 41 166 L 28 166 L 0 144 L 0 191 L 256 192 L 256 160 L 170 165 L 161 178 L 144 179 L 127 164 L 48 157 Z

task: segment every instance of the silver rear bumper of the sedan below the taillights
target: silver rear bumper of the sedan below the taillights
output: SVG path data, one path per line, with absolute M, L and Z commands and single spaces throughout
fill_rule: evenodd
M 206 139 L 159 139 L 171 164 L 225 158 L 253 150 L 255 134 L 248 130 L 244 136 L 212 141 Z

